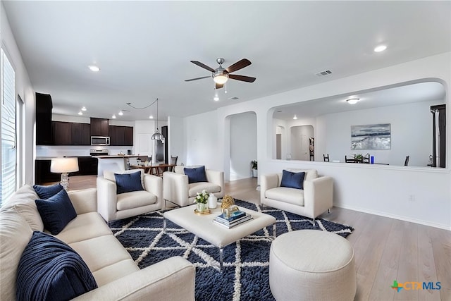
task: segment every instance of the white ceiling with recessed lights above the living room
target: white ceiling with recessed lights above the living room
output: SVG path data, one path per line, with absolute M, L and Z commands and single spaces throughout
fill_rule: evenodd
M 2 1 L 32 85 L 54 113 L 190 116 L 451 51 L 451 1 Z M 373 52 L 386 44 L 382 53 Z M 191 60 L 246 58 L 228 93 Z M 99 73 L 87 66 L 96 64 Z M 315 73 L 331 70 L 318 77 Z M 218 93 L 220 100 L 214 102 Z M 230 100 L 238 97 L 238 100 Z

